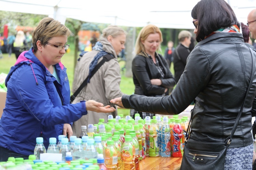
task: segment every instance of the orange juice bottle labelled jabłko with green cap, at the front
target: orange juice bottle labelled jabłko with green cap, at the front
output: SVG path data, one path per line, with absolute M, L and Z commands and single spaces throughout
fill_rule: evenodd
M 122 149 L 123 167 L 124 170 L 134 170 L 135 164 L 135 148 L 132 146 L 132 138 L 130 135 L 125 136 L 125 142 Z

